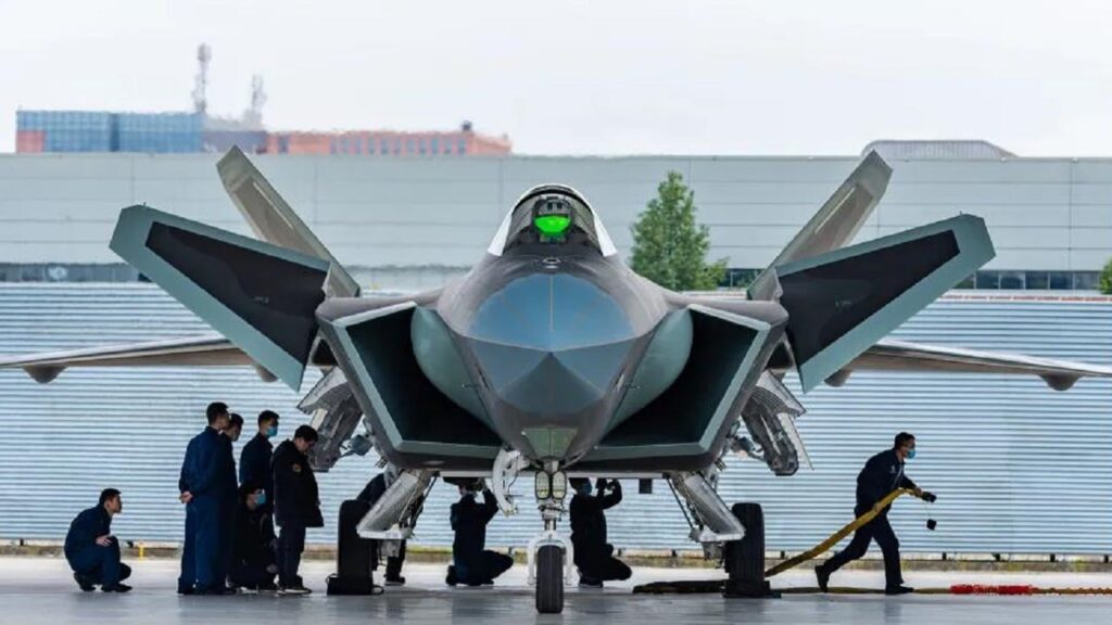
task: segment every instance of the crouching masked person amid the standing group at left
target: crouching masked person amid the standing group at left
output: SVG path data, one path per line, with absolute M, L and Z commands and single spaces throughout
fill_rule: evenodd
M 267 493 L 247 483 L 239 487 L 231 543 L 232 586 L 251 591 L 275 591 L 278 563 L 275 559 L 274 525 L 266 512 Z

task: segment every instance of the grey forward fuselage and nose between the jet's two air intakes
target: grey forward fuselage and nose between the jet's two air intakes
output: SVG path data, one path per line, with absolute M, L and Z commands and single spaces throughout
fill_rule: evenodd
M 569 462 L 615 425 L 668 310 L 664 291 L 617 258 L 548 245 L 487 256 L 437 305 L 499 437 Z

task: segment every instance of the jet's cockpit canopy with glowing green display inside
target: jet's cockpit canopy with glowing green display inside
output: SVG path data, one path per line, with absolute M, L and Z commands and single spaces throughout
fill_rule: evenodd
M 617 254 L 587 200 L 563 185 L 540 185 L 526 191 L 506 214 L 487 251 L 502 256 L 522 245 L 587 246 L 603 256 Z

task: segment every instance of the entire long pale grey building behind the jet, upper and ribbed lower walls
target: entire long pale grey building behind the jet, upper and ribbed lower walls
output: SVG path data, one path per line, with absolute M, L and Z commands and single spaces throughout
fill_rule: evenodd
M 894 173 L 861 239 L 969 212 L 985 218 L 997 251 L 898 337 L 1112 364 L 1112 298 L 1094 290 L 1112 257 L 1112 160 L 875 147 Z M 120 208 L 140 202 L 246 234 L 216 160 L 0 155 L 0 354 L 205 331 L 120 264 L 107 242 Z M 712 258 L 728 257 L 729 281 L 744 284 L 857 161 L 256 157 L 356 277 L 389 290 L 433 287 L 466 270 L 516 197 L 545 181 L 585 192 L 625 254 L 629 225 L 673 170 L 694 188 L 699 219 L 712 229 Z M 302 391 L 316 381 L 307 377 Z M 763 465 L 731 460 L 723 477 L 727 500 L 765 504 L 771 549 L 810 547 L 848 520 L 860 465 L 906 429 L 920 445 L 909 474 L 940 502 L 931 510 L 939 520 L 933 533 L 923 528 L 927 513 L 919 504 L 897 506 L 893 522 L 905 550 L 1112 554 L 1109 381 L 1082 380 L 1056 393 L 1027 378 L 855 374 L 843 388 L 800 397 L 808 413 L 798 425 L 814 468 L 777 478 Z M 264 408 L 278 410 L 282 437 L 304 419 L 294 408 L 298 395 L 246 369 L 75 369 L 47 386 L 0 371 L 0 539 L 60 539 L 78 509 L 115 486 L 127 500 L 115 527 L 121 537 L 179 540 L 181 453 L 215 399 L 248 421 Z M 310 540 L 332 542 L 331 517 L 374 475 L 373 462 L 345 458 L 320 476 L 329 526 Z M 417 543 L 446 545 L 453 489 L 439 485 L 434 493 Z M 615 545 L 694 547 L 663 484 L 653 495 L 637 495 L 633 484 L 626 493 L 609 517 Z M 499 518 L 490 542 L 523 545 L 538 527 L 528 512 Z

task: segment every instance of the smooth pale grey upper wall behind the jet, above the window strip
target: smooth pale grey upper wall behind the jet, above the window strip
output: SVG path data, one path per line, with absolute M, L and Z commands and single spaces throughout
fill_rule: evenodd
M 216 176 L 218 155 L 0 155 L 6 262 L 119 262 L 105 245 L 120 209 L 160 210 L 248 234 Z M 469 267 L 533 185 L 590 198 L 618 249 L 668 171 L 695 191 L 711 258 L 765 267 L 860 161 L 834 157 L 252 157 L 348 266 Z M 985 269 L 1095 271 L 1112 256 L 1112 160 L 893 161 L 866 240 L 983 217 Z

